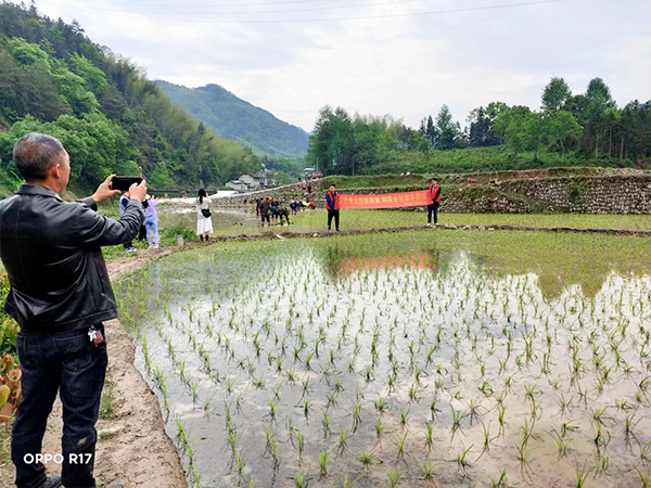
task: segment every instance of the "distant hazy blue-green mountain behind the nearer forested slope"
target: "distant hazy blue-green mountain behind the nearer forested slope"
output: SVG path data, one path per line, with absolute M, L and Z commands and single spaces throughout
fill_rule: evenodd
M 218 85 L 186 88 L 163 80 L 156 84 L 174 102 L 227 139 L 291 159 L 303 158 L 307 153 L 305 130 L 276 118 Z

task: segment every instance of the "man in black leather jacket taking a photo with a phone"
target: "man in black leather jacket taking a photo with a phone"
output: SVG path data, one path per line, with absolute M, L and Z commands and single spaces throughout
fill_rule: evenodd
M 0 202 L 0 257 L 11 284 L 4 310 L 21 325 L 23 400 L 12 432 L 18 488 L 91 488 L 100 397 L 106 372 L 102 322 L 117 317 L 101 246 L 132 240 L 144 218 L 144 181 L 129 189 L 120 220 L 97 214 L 119 193 L 112 177 L 88 198 L 65 203 L 69 157 L 61 142 L 30 133 L 16 142 L 14 163 L 26 184 Z M 62 476 L 35 462 L 48 415 L 63 403 Z

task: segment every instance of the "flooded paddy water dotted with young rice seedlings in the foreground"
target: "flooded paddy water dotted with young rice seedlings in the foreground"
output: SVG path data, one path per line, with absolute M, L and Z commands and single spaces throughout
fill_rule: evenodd
M 417 234 L 215 246 L 122 283 L 189 483 L 641 486 L 644 265 L 550 296 L 490 266 L 481 249 L 509 237 Z

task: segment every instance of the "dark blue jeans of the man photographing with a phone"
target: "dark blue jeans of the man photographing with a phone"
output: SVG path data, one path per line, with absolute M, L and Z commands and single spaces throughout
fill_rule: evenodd
M 104 333 L 101 324 L 95 328 Z M 46 467 L 29 454 L 41 452 L 58 390 L 63 403 L 63 485 L 94 487 L 94 425 L 106 374 L 106 343 L 92 345 L 84 329 L 61 334 L 21 331 L 16 345 L 23 370 L 23 400 L 11 436 L 17 487 L 35 488 L 46 480 Z

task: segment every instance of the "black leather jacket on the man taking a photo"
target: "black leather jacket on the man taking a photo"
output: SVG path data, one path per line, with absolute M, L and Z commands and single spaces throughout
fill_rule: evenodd
M 11 284 L 4 310 L 21 328 L 58 333 L 117 317 L 101 246 L 131 241 L 144 210 L 137 200 L 120 220 L 95 210 L 91 197 L 65 203 L 35 184 L 0 202 L 0 257 Z

